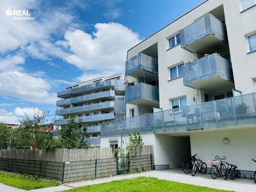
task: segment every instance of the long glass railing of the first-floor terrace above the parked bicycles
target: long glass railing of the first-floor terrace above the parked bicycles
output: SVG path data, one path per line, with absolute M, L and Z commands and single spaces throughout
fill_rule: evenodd
M 256 125 L 256 93 L 205 102 L 101 124 L 100 135 L 186 132 L 197 129 Z

